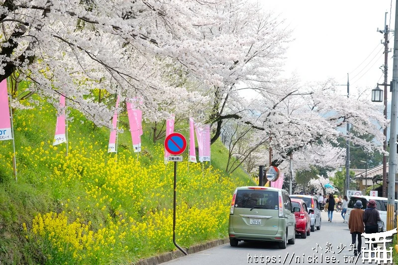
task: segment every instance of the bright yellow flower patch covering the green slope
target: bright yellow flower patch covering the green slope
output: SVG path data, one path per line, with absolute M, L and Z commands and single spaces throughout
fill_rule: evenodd
M 35 116 L 25 112 L 14 116 L 14 126 L 28 137 Z M 42 119 L 51 115 L 46 107 L 38 113 Z M 70 122 L 70 135 L 83 126 L 79 119 L 76 115 L 75 122 Z M 45 140 L 46 130 L 53 128 L 36 128 L 35 137 L 41 141 L 35 146 L 23 141 L 16 146 L 19 176 L 49 188 L 54 201 L 52 211 L 38 211 L 23 223 L 28 244 L 42 253 L 46 264 L 128 264 L 176 249 L 172 240 L 174 163 L 165 165 L 162 144 L 143 146 L 148 151 L 138 159 L 128 149 L 108 154 L 108 139 L 100 139 L 98 129 L 93 129 L 89 137 L 75 133 L 66 155 L 65 144 L 52 146 L 52 139 Z M 104 131 L 103 135 L 108 134 Z M 12 152 L 0 154 L 9 161 L 11 156 Z M 1 167 L 10 172 L 12 162 Z M 178 244 L 189 247 L 225 238 L 231 194 L 236 186 L 248 183 L 234 183 L 208 164 L 202 172 L 200 163 L 190 163 L 189 170 L 186 160 L 178 163 Z

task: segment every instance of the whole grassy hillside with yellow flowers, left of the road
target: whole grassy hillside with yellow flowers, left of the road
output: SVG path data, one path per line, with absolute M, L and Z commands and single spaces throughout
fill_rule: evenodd
M 0 261 L 2 264 L 129 264 L 175 249 L 172 241 L 173 163 L 163 140 L 132 153 L 126 117 L 118 154 L 107 153 L 109 130 L 71 110 L 66 144 L 52 146 L 56 110 L 48 103 L 15 110 L 17 180 L 12 141 L 0 149 Z M 145 114 L 144 114 L 145 115 Z M 175 131 L 187 135 L 185 124 Z M 211 147 L 211 166 L 178 163 L 177 242 L 182 247 L 224 238 L 231 194 L 254 184 L 243 172 L 223 173 L 227 152 Z

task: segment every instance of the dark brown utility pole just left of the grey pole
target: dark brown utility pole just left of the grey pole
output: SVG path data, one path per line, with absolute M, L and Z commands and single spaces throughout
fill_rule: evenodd
M 387 120 L 387 79 L 389 61 L 389 26 L 387 25 L 387 12 L 385 14 L 384 30 L 384 118 Z M 387 152 L 387 127 L 383 130 L 383 150 Z M 387 155 L 383 155 L 383 197 L 387 197 Z

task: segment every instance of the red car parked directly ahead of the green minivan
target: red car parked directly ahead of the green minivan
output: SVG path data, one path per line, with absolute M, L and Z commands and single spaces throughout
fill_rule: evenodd
M 296 233 L 301 234 L 301 238 L 306 238 L 310 234 L 311 229 L 311 219 L 309 218 L 309 213 L 312 209 L 307 210 L 307 206 L 302 199 L 292 198 L 292 207 L 296 216 Z

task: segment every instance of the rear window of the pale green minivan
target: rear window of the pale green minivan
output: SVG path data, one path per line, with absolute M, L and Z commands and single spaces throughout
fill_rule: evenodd
M 235 207 L 253 208 L 261 206 L 264 209 L 278 210 L 278 192 L 274 190 L 238 190 Z

